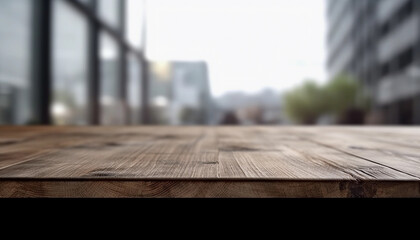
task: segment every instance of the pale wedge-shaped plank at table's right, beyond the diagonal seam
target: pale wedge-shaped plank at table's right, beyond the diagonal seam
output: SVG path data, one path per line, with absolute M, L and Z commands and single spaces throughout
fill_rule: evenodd
M 327 146 L 365 162 L 420 178 L 420 145 L 416 144 L 420 135 L 416 136 L 413 135 L 413 131 L 403 130 L 405 129 L 389 132 L 382 128 L 376 131 L 341 128 L 324 132 L 322 137 L 319 137 L 321 134 L 319 129 L 306 129 L 303 135 L 295 134 L 305 141 Z

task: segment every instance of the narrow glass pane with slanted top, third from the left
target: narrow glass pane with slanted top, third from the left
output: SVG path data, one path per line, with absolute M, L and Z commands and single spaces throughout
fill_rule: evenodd
M 105 32 L 100 36 L 100 105 L 102 125 L 124 124 L 124 107 L 120 97 L 120 50 L 117 42 Z

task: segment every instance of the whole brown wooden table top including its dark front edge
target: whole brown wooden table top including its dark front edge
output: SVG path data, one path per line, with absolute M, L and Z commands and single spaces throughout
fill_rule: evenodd
M 420 197 L 420 128 L 3 126 L 0 197 Z

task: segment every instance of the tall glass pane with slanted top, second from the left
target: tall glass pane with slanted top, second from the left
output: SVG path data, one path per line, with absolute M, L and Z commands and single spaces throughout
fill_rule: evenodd
M 88 24 L 83 15 L 62 0 L 54 1 L 53 12 L 53 122 L 87 124 Z

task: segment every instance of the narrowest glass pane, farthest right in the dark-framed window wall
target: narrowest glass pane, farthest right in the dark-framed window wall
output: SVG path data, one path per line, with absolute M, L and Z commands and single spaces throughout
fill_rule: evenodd
M 141 65 L 136 56 L 128 57 L 127 94 L 130 110 L 130 124 L 141 123 Z

